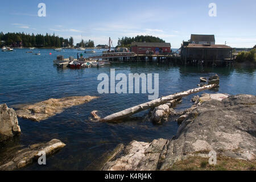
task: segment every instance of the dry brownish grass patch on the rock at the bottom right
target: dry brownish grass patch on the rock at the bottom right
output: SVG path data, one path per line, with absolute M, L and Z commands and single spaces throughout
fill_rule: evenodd
M 247 161 L 241 159 L 217 156 L 217 164 L 210 165 L 208 158 L 191 156 L 187 159 L 174 163 L 171 171 L 255 171 L 256 160 Z

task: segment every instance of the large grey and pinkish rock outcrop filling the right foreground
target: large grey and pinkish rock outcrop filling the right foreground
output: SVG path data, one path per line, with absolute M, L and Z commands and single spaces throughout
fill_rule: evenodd
M 102 170 L 166 170 L 191 156 L 208 153 L 236 160 L 256 159 L 256 96 L 206 96 L 193 107 L 175 138 L 133 141 L 116 152 Z M 221 98 L 221 97 L 224 97 Z M 217 158 L 217 160 L 220 158 Z

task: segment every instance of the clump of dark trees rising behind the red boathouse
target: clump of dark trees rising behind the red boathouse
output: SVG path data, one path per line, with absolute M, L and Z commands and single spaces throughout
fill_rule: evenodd
M 155 36 L 150 36 L 150 35 L 137 35 L 133 38 L 127 38 L 123 37 L 122 39 L 118 39 L 118 47 L 130 47 L 132 42 L 160 42 L 160 43 L 165 43 L 163 39 L 160 39 Z

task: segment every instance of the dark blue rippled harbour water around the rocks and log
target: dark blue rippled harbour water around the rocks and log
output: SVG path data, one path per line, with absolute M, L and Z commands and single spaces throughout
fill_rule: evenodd
M 156 138 L 172 138 L 177 124 L 169 121 L 163 125 L 143 122 L 146 111 L 137 114 L 135 121 L 125 123 L 98 123 L 89 121 L 90 111 L 98 110 L 101 116 L 146 102 L 147 94 L 98 94 L 97 76 L 100 73 L 159 73 L 159 96 L 196 88 L 199 77 L 217 73 L 220 78 L 218 91 L 207 93 L 256 94 L 256 71 L 253 68 L 200 68 L 176 67 L 156 63 L 115 63 L 108 67 L 90 69 L 58 69 L 52 60 L 59 54 L 76 57 L 76 50 L 55 52 L 52 49 L 35 49 L 41 55 L 26 53 L 28 49 L 0 52 L 0 104 L 9 107 L 33 103 L 49 98 L 67 96 L 99 96 L 88 104 L 75 106 L 45 121 L 33 122 L 19 118 L 22 135 L 8 147 L 16 144 L 27 146 L 48 142 L 53 138 L 67 144 L 59 153 L 47 159 L 46 166 L 32 164 L 25 169 L 97 169 L 102 155 L 118 143 L 131 140 L 150 142 Z M 49 53 L 52 52 L 52 55 Z M 81 51 L 80 51 L 81 52 Z M 101 51 L 99 51 L 101 52 Z M 85 54 L 84 54 L 85 55 Z M 176 109 L 192 105 L 191 97 L 183 99 Z M 142 118 L 140 118 L 142 117 Z M 6 154 L 0 150 L 0 160 Z

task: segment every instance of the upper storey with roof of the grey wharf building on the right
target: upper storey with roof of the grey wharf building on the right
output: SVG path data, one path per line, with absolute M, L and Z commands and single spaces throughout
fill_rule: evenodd
M 191 34 L 191 38 L 189 43 L 191 44 L 215 44 L 215 37 L 214 35 L 197 35 Z

